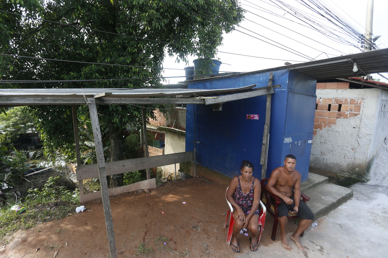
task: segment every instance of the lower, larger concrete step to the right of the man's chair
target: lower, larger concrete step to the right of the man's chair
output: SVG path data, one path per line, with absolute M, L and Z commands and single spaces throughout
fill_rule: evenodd
M 315 219 L 328 214 L 353 197 L 352 190 L 332 183 L 324 183 L 302 192 L 310 197 L 307 205 L 314 213 Z

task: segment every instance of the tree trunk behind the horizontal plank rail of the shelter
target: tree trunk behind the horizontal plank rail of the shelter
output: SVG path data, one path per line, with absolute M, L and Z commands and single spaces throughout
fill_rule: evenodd
M 123 130 L 120 127 L 115 127 L 112 124 L 108 125 L 109 139 L 111 142 L 111 161 L 123 160 L 123 145 L 124 137 Z M 111 176 L 111 188 L 123 186 L 123 174 L 115 174 Z

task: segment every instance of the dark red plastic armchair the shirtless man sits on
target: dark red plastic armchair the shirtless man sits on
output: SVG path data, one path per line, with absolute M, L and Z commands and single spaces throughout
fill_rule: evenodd
M 267 182 L 268 182 L 268 179 L 269 178 L 264 178 L 262 179 L 262 181 L 260 182 L 260 184 L 262 185 L 262 192 L 260 193 L 260 200 L 263 200 L 263 202 L 265 203 L 265 206 L 267 207 L 267 210 L 268 210 L 268 213 L 272 215 L 272 217 L 274 217 L 274 226 L 272 227 L 272 235 L 271 235 L 271 239 L 273 241 L 275 241 L 275 237 L 276 237 L 276 231 L 277 231 L 277 224 L 279 222 L 278 220 L 278 215 L 277 215 L 277 205 L 279 205 L 279 203 L 281 202 L 280 201 L 280 198 L 272 193 L 270 193 L 268 190 L 267 190 Z M 294 189 L 293 189 L 294 190 Z M 275 200 L 275 204 L 273 205 L 271 203 L 271 200 L 270 200 L 270 196 L 272 196 L 272 198 L 274 198 Z M 263 197 L 265 197 L 263 199 Z M 307 197 L 305 194 L 303 194 L 302 192 L 300 193 L 300 197 L 302 198 L 302 201 L 303 202 L 307 202 L 307 201 L 310 201 L 310 198 Z M 261 202 L 261 201 L 260 201 Z M 288 218 L 289 219 L 296 219 L 296 218 L 299 218 L 298 215 L 294 214 L 294 213 L 288 213 Z M 300 234 L 300 236 L 303 236 L 304 235 L 304 231 L 302 232 L 302 234 Z

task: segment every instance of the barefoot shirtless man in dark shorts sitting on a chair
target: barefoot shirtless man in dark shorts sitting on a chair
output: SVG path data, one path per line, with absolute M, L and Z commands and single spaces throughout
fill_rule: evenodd
M 295 210 L 292 213 L 296 213 L 301 220 L 299 226 L 291 235 L 291 239 L 296 243 L 299 249 L 304 250 L 304 246 L 300 243 L 299 236 L 305 231 L 314 219 L 314 214 L 306 203 L 300 201 L 300 181 L 301 175 L 295 169 L 296 157 L 294 155 L 287 155 L 284 159 L 284 166 L 277 167 L 272 171 L 270 178 L 268 179 L 267 189 L 274 195 L 281 199 L 281 203 L 278 205 L 278 219 L 280 224 L 280 233 L 282 239 L 282 245 L 284 249 L 288 251 L 294 251 L 289 245 L 286 237 L 286 224 L 288 221 L 288 211 Z M 294 196 L 292 196 L 292 187 L 294 186 Z

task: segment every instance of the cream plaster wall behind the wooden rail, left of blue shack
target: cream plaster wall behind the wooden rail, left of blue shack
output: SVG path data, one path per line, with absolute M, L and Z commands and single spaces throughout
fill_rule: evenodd
M 177 133 L 166 131 L 165 134 L 165 154 L 185 152 L 186 137 L 185 135 L 179 135 Z M 167 165 L 163 166 L 163 172 L 165 176 L 167 173 L 171 173 L 175 178 L 175 166 Z M 178 175 L 179 164 L 177 164 L 177 175 Z

